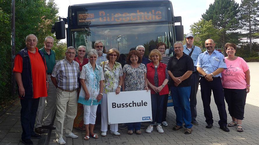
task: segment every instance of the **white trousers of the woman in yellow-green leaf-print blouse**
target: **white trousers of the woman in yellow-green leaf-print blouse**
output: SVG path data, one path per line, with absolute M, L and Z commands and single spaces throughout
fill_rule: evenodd
M 101 103 L 101 112 L 102 112 L 102 119 L 101 119 L 101 131 L 107 131 L 108 127 L 108 103 L 107 103 L 107 94 L 103 93 L 102 96 L 102 103 Z M 110 124 L 110 131 L 117 132 L 118 131 L 118 124 Z

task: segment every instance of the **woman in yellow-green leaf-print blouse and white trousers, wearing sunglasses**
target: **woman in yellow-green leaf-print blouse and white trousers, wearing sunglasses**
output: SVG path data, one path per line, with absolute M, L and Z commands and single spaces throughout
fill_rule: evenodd
M 107 136 L 107 126 L 108 126 L 108 104 L 107 104 L 107 93 L 108 92 L 116 92 L 116 94 L 120 93 L 120 88 L 123 81 L 123 73 L 121 64 L 116 62 L 119 59 L 120 52 L 117 49 L 110 49 L 107 52 L 107 61 L 101 62 L 101 67 L 104 72 L 104 93 L 102 96 L 102 104 L 101 104 L 101 131 L 102 136 Z M 111 134 L 119 136 L 118 133 L 118 124 L 110 124 Z

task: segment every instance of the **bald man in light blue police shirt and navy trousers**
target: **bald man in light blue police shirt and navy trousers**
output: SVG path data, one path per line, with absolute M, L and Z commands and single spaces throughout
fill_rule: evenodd
M 211 90 L 214 101 L 219 111 L 219 127 L 223 131 L 229 132 L 227 127 L 227 113 L 224 100 L 224 92 L 221 84 L 221 72 L 227 69 L 224 55 L 215 50 L 215 43 L 212 39 L 205 41 L 206 51 L 198 56 L 194 66 L 201 74 L 201 99 L 203 102 L 204 116 L 206 118 L 206 128 L 212 128 L 213 117 L 210 109 Z

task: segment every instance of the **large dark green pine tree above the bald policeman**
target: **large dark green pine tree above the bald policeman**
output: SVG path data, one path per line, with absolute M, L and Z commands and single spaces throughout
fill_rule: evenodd
M 202 14 L 206 21 L 212 20 L 215 28 L 219 29 L 221 46 L 226 44 L 226 34 L 235 32 L 239 28 L 239 4 L 234 0 L 215 0 L 210 4 L 205 14 Z M 226 55 L 226 52 L 224 51 Z

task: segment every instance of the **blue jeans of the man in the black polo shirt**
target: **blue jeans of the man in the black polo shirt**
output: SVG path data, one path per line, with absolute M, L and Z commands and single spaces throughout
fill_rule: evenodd
M 190 93 L 191 86 L 175 87 L 171 86 L 171 94 L 173 98 L 173 108 L 176 114 L 176 125 L 182 126 L 185 122 L 185 128 L 191 128 L 191 109 L 190 109 Z

